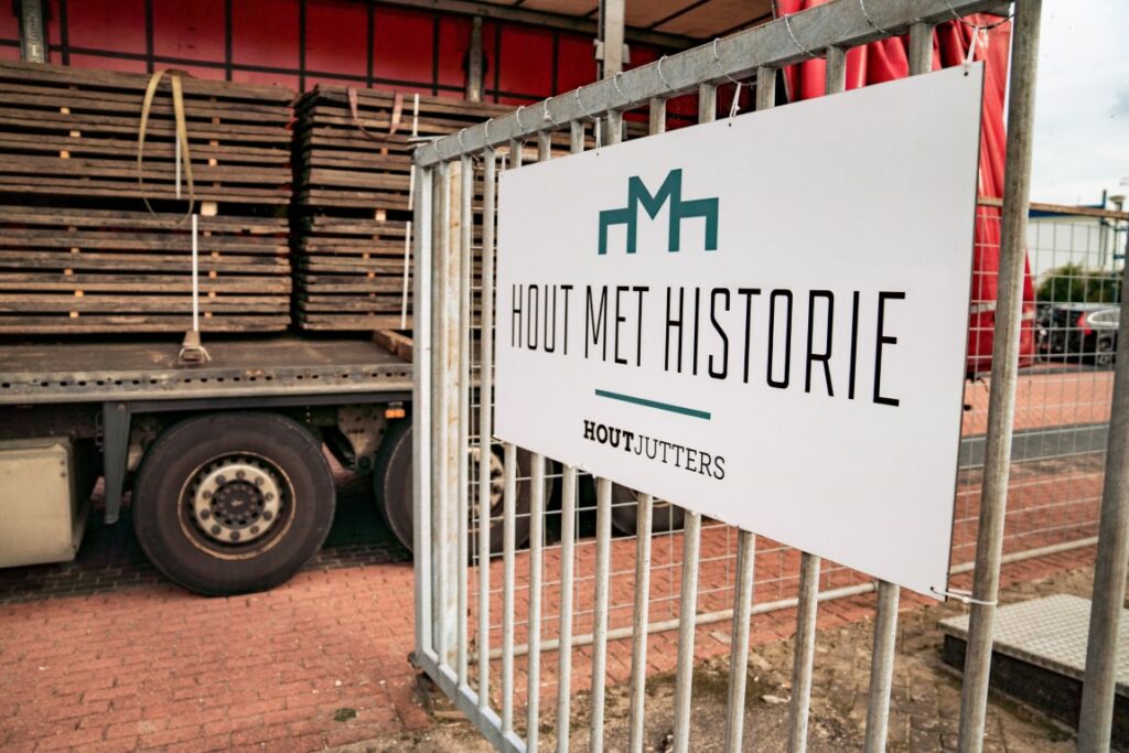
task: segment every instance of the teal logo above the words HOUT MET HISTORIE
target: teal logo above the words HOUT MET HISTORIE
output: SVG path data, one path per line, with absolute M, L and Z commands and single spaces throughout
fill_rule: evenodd
M 636 222 L 639 207 L 650 219 L 658 216 L 663 204 L 671 204 L 671 227 L 667 233 L 667 251 L 675 253 L 682 247 L 682 220 L 693 217 L 706 219 L 706 251 L 717 251 L 717 199 L 682 199 L 682 169 L 671 170 L 651 194 L 637 175 L 628 180 L 628 205 L 622 209 L 605 209 L 599 212 L 599 253 L 607 253 L 607 228 L 613 225 L 628 226 L 628 253 L 636 253 Z

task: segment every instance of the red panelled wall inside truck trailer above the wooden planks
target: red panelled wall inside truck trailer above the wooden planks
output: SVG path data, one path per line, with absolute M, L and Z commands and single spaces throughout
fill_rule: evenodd
M 0 5 L 0 58 L 18 59 L 18 27 Z M 201 78 L 320 81 L 462 96 L 467 17 L 350 0 L 49 0 L 50 62 Z M 483 23 L 485 98 L 526 104 L 594 80 L 592 38 Z M 633 46 L 634 64 L 658 51 Z

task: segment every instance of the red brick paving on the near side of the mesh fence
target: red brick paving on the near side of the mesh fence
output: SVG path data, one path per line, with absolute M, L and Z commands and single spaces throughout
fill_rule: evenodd
M 1079 550 L 1010 564 L 1005 581 L 1092 557 Z M 825 603 L 820 628 L 868 619 L 873 603 L 873 595 Z M 903 608 L 920 603 L 902 599 Z M 754 642 L 788 637 L 794 620 L 791 610 L 759 615 Z M 309 569 L 253 596 L 202 598 L 155 583 L 25 601 L 0 613 L 0 747 L 312 751 L 426 729 L 406 660 L 411 630 L 404 562 Z M 725 654 L 727 630 L 700 628 L 695 658 Z M 673 668 L 675 646 L 674 633 L 651 637 L 651 672 Z M 630 643 L 610 650 L 609 681 L 622 682 Z M 589 663 L 590 649 L 575 653 L 575 691 L 590 688 Z M 544 655 L 543 703 L 555 664 L 554 653 Z M 525 666 L 520 659 L 519 685 Z

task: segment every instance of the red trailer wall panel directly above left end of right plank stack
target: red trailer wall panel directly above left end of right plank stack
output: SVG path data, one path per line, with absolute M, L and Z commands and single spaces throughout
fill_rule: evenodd
M 307 3 L 306 70 L 367 73 L 368 10 L 362 3 L 325 0 Z

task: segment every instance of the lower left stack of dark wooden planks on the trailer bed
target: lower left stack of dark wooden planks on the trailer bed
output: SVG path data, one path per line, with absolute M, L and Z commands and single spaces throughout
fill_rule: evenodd
M 0 333 L 184 332 L 191 230 L 182 216 L 0 207 Z M 205 332 L 285 330 L 285 218 L 202 217 Z

